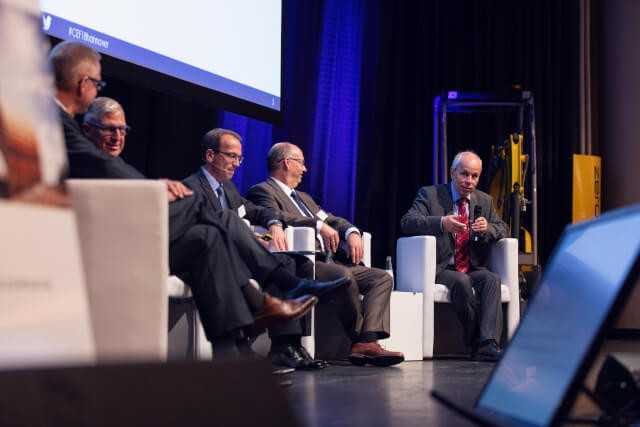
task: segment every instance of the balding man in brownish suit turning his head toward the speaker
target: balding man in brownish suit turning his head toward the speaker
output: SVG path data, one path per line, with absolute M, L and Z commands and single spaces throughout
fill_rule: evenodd
M 308 194 L 295 190 L 307 170 L 300 148 L 287 142 L 275 144 L 269 150 L 267 164 L 269 179 L 253 186 L 247 198 L 279 210 L 287 225 L 317 230 L 322 249 L 332 254 L 332 259 L 316 262 L 316 277 L 328 280 L 346 274 L 351 279 L 347 289 L 356 321 L 352 322 L 355 325 L 345 325 L 353 342 L 349 360 L 357 365 L 376 366 L 402 362 L 402 353 L 385 350 L 378 344 L 379 339 L 389 336 L 393 281 L 385 271 L 361 264 L 360 231 L 344 218 L 322 210 Z M 341 239 L 346 242 L 346 252 L 338 253 Z M 362 301 L 360 294 L 364 296 Z

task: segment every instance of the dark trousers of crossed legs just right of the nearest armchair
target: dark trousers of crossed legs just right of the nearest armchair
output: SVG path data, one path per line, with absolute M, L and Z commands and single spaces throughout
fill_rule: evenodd
M 170 205 L 169 266 L 179 276 L 187 273 L 202 326 L 212 341 L 253 323 L 242 287 L 250 278 L 268 283 L 282 262 L 257 242 L 234 212 L 202 218 L 196 216 L 196 201 L 186 198 Z

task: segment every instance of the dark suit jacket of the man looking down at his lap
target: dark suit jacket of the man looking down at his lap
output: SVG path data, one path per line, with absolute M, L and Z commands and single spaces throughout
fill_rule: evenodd
M 204 175 L 204 172 L 202 172 L 202 169 L 198 169 L 197 172 L 187 177 L 183 183 L 195 193 L 201 195 L 206 200 L 209 209 L 212 209 L 214 212 L 222 210 L 218 196 L 213 193 L 211 185 L 209 181 L 207 181 L 207 177 Z M 242 197 L 232 181 L 224 182 L 223 186 L 229 208 L 239 213 L 239 209 L 244 206 L 243 218 L 246 218 L 251 224 L 268 228 L 269 221 L 272 220 L 278 220 L 284 223 L 277 210 L 257 206 L 250 200 Z

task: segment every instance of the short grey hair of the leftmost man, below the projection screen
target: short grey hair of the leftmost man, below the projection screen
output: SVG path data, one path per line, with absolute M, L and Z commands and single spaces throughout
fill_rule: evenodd
M 100 54 L 78 42 L 58 43 L 49 52 L 49 66 L 58 89 L 70 90 L 79 79 L 78 68 L 83 63 L 99 63 Z

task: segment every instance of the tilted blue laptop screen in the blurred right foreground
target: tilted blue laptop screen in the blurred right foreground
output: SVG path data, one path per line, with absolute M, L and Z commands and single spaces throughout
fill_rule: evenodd
M 544 426 L 640 255 L 640 207 L 567 228 L 476 408 Z

